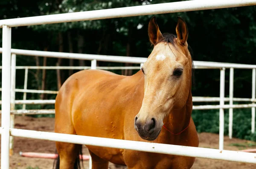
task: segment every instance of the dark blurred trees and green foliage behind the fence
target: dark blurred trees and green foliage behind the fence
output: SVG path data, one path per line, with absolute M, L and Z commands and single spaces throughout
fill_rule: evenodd
M 175 0 L 177 1 L 177 0 Z M 0 20 L 67 12 L 91 11 L 126 6 L 175 2 L 172 0 L 0 0 Z M 153 15 L 82 21 L 12 28 L 12 48 L 82 54 L 148 57 L 148 22 Z M 256 64 L 256 6 L 157 14 L 162 33 L 174 33 L 177 16 L 189 30 L 188 43 L 196 61 Z M 2 38 L 2 31 L 0 31 Z M 0 46 L 2 45 L 0 39 Z M 1 59 L 0 59 L 1 60 Z M 2 60 L 1 60 L 2 62 Z M 98 66 L 139 66 L 139 64 L 97 62 Z M 17 66 L 90 66 L 90 61 L 17 55 Z M 29 70 L 28 89 L 58 90 L 78 70 Z M 111 70 L 132 75 L 137 70 Z M 193 96 L 219 97 L 220 71 L 195 70 Z M 45 79 L 45 80 L 43 80 Z M 235 69 L 234 97 L 251 98 L 251 70 Z M 23 89 L 24 71 L 16 72 L 16 88 Z M 229 70 L 226 70 L 225 97 L 229 95 Z M 27 93 L 27 99 L 55 99 L 54 94 Z M 21 100 L 23 93 L 16 93 Z M 244 102 L 243 102 L 244 103 Z M 203 103 L 212 104 L 212 103 Z M 218 102 L 215 104 L 218 104 Z M 234 102 L 238 104 L 238 102 Z M 195 103 L 194 105 L 198 105 Z M 22 105 L 16 105 L 19 109 Z M 27 109 L 54 109 L 54 105 L 27 105 Z M 228 110 L 225 110 L 225 135 L 228 134 Z M 54 115 L 34 115 L 34 117 Z M 218 110 L 194 110 L 198 132 L 219 131 Z M 234 109 L 233 137 L 256 141 L 250 132 L 251 109 Z

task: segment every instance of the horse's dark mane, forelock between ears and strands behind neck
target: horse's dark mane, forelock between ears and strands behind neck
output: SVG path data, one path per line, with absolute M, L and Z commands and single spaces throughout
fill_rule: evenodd
M 177 47 L 177 42 L 175 41 L 175 38 L 177 38 L 177 35 L 175 34 L 170 34 L 170 33 L 164 33 L 162 34 L 163 38 L 159 39 L 157 43 L 160 42 L 168 42 L 171 43 L 174 47 Z M 191 55 L 191 60 L 192 60 L 192 85 L 195 85 L 195 66 L 193 62 L 193 51 L 192 48 L 188 45 L 189 53 Z

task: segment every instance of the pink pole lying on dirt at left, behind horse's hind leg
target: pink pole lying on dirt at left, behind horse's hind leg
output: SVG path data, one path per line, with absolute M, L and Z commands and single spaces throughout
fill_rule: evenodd
M 20 156 L 23 157 L 33 157 L 33 158 L 57 158 L 57 154 L 50 154 L 50 153 L 40 153 L 40 152 L 20 152 Z M 89 155 L 79 155 L 80 159 L 89 160 Z

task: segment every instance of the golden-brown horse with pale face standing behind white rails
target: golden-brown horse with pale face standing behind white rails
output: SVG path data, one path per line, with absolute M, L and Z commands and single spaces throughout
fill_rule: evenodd
M 178 17 L 177 36 L 161 34 L 152 17 L 153 51 L 132 76 L 82 70 L 70 76 L 55 103 L 55 132 L 102 138 L 198 146 L 192 113 L 192 58 L 188 29 Z M 79 167 L 81 145 L 56 142 L 57 168 Z M 189 169 L 195 158 L 87 146 L 93 169 L 108 163 L 128 169 Z

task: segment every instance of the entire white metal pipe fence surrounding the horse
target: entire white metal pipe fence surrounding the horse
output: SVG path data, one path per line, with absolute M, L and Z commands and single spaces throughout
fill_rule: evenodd
M 135 6 L 135 7 L 125 7 L 125 8 L 114 8 L 98 11 L 85 11 L 76 12 L 69 14 L 55 14 L 40 17 L 27 17 L 27 18 L 17 18 L 9 20 L 0 20 L 0 27 L 3 28 L 3 48 L 1 49 L 3 53 L 3 65 L 2 65 L 2 127 L 1 133 L 1 168 L 9 169 L 9 137 L 18 136 L 26 138 L 44 139 L 51 141 L 63 141 L 76 144 L 86 144 L 86 145 L 96 145 L 96 146 L 108 146 L 113 148 L 122 149 L 133 149 L 145 152 L 159 152 L 164 154 L 172 155 L 184 155 L 198 158 L 210 158 L 218 160 L 227 161 L 237 161 L 245 163 L 256 163 L 256 158 L 254 153 L 247 152 L 235 152 L 223 150 L 220 153 L 218 149 L 206 149 L 198 147 L 189 146 L 176 146 L 167 144 L 154 144 L 145 143 L 137 141 L 125 141 L 109 138 L 96 138 L 88 136 L 79 135 L 69 135 L 51 133 L 51 132 L 38 132 L 32 130 L 21 130 L 14 129 L 10 119 L 13 118 L 11 115 L 11 108 L 13 113 L 22 113 L 24 110 L 13 109 L 13 105 L 17 102 L 21 104 L 28 104 L 30 101 L 11 101 L 11 95 L 13 98 L 13 93 L 16 92 L 35 92 L 27 89 L 17 90 L 15 89 L 15 80 L 11 83 L 11 54 L 19 55 L 31 55 L 31 56 L 47 56 L 47 57 L 58 57 L 67 59 L 87 59 L 92 61 L 91 68 L 96 69 L 96 61 L 110 61 L 110 62 L 129 62 L 129 63 L 143 63 L 146 58 L 132 58 L 132 57 L 119 57 L 119 56 L 99 56 L 90 54 L 70 54 L 70 53 L 57 53 L 57 52 L 46 52 L 46 51 L 26 51 L 11 49 L 11 27 L 15 26 L 26 26 L 26 25 L 39 25 L 39 24 L 50 24 L 50 23 L 62 23 L 62 22 L 72 22 L 81 20 L 96 20 L 96 19 L 106 19 L 115 17 L 128 17 L 128 16 L 139 16 L 147 14 L 163 14 L 181 11 L 196 11 L 205 9 L 215 9 L 215 8 L 228 8 L 228 7 L 238 7 L 238 6 L 251 6 L 256 5 L 256 0 L 190 0 L 175 3 L 163 3 L 156 5 L 147 6 Z M 13 57 L 14 58 L 14 57 Z M 14 60 L 14 59 L 13 59 Z M 15 72 L 15 62 L 12 60 L 12 72 Z M 219 139 L 219 149 L 223 149 L 223 135 L 224 135 L 224 109 L 230 110 L 230 129 L 232 129 L 232 115 L 233 108 L 252 108 L 252 132 L 255 131 L 255 76 L 256 76 L 256 65 L 241 65 L 241 64 L 227 64 L 227 63 L 216 63 L 216 62 L 200 62 L 195 61 L 196 68 L 219 68 L 220 72 L 220 97 L 218 98 L 204 98 L 204 101 L 219 101 L 219 105 L 201 105 L 194 106 L 193 109 L 219 109 L 220 110 L 220 139 Z M 18 67 L 17 67 L 18 68 Z M 233 98 L 233 70 L 234 68 L 239 69 L 252 69 L 253 79 L 252 79 L 252 98 Z M 28 67 L 25 70 L 29 69 Z M 224 79 L 225 79 L 225 69 L 230 69 L 230 97 L 224 98 Z M 12 75 L 13 76 L 13 75 Z M 45 91 L 41 91 L 45 92 Z M 198 99 L 198 100 L 197 100 Z M 201 97 L 194 97 L 194 101 L 202 101 Z M 252 104 L 239 104 L 233 105 L 233 101 L 251 101 Z M 224 101 L 229 101 L 230 104 L 224 104 Z M 36 101 L 35 101 L 36 102 Z M 53 103 L 54 101 L 48 101 Z M 11 104 L 12 103 L 12 104 Z M 30 112 L 29 112 L 30 111 Z M 31 113 L 31 111 L 36 110 L 26 110 L 26 113 Z M 44 111 L 44 112 L 43 112 Z M 49 113 L 52 110 L 42 110 L 41 113 Z M 32 112 L 33 113 L 33 112 Z M 230 137 L 232 136 L 232 130 L 230 130 Z M 139 145 L 139 146 L 138 146 Z M 154 147 L 154 148 L 152 148 Z

